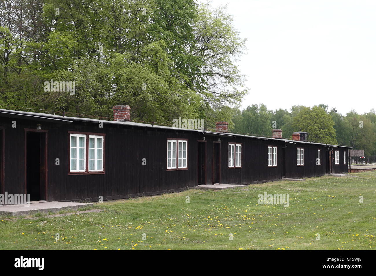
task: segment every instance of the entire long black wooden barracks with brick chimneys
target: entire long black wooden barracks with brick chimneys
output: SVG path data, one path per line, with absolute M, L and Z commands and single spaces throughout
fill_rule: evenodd
M 0 187 L 32 201 L 97 201 L 348 171 L 346 146 L 0 109 Z

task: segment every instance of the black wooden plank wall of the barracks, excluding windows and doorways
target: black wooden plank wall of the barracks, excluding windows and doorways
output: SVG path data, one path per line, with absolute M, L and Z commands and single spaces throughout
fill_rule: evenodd
M 17 128 L 12 128 L 12 121 Z M 48 130 L 48 201 L 104 199 L 135 195 L 150 195 L 181 190 L 197 185 L 197 147 L 203 134 L 184 130 L 132 127 L 96 123 L 74 122 L 59 124 L 0 117 L 5 129 L 5 191 L 24 193 L 24 128 L 41 124 Z M 68 175 L 68 131 L 106 133 L 105 174 Z M 167 138 L 188 139 L 188 170 L 167 171 Z M 261 140 L 237 136 L 235 138 L 205 136 L 206 184 L 213 183 L 213 142 L 221 139 L 221 183 L 238 184 L 280 179 L 282 177 L 282 146 L 284 141 Z M 228 143 L 242 143 L 242 167 L 228 167 Z M 268 145 L 277 146 L 277 167 L 267 166 Z M 305 166 L 296 166 L 296 144 L 287 144 L 286 177 L 317 176 L 325 174 L 327 167 L 324 146 L 299 144 L 305 148 Z M 316 166 L 317 148 L 321 149 L 321 166 Z M 347 172 L 340 148 L 340 165 L 334 172 Z M 346 151 L 347 152 L 347 151 Z M 60 165 L 55 165 L 59 158 Z M 147 165 L 142 165 L 146 158 Z M 342 161 L 342 162 L 341 162 Z M 336 167 L 337 166 L 337 167 Z

